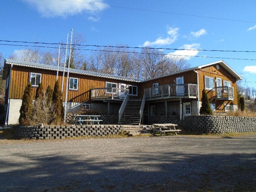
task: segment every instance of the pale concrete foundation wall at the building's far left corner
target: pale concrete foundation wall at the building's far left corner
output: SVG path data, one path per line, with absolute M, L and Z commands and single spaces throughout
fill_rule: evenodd
M 19 124 L 21 99 L 10 99 L 8 124 Z

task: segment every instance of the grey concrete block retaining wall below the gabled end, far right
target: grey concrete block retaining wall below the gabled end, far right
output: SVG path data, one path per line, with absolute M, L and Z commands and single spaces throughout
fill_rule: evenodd
M 185 116 L 182 127 L 196 133 L 256 132 L 256 117 Z

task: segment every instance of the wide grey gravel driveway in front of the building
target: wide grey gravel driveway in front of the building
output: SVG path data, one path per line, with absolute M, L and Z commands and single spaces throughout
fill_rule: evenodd
M 0 191 L 256 191 L 256 135 L 0 144 Z

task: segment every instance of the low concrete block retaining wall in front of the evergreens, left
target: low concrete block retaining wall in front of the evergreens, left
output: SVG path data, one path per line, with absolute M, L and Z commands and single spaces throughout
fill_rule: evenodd
M 17 137 L 31 139 L 62 139 L 115 135 L 123 129 L 123 125 L 16 126 L 14 134 Z

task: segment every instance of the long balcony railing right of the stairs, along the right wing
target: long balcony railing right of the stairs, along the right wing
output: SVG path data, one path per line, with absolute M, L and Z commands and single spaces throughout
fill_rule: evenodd
M 197 96 L 196 84 L 167 84 L 145 89 L 146 98 Z

